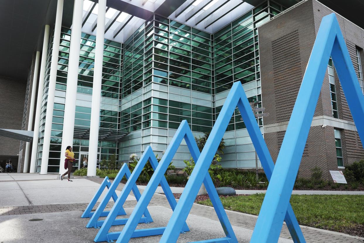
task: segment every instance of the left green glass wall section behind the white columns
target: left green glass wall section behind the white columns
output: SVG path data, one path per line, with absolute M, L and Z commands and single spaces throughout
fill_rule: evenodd
M 60 47 L 58 56 L 57 78 L 54 112 L 52 119 L 52 132 L 50 142 L 50 153 L 48 172 L 59 172 L 59 164 L 63 159 L 61 150 L 62 130 L 64 119 L 64 103 L 66 97 L 68 57 L 70 50 L 71 30 L 62 28 L 60 36 Z M 50 73 L 50 60 L 52 53 L 52 40 L 50 38 L 47 55 L 47 70 L 45 78 L 45 89 L 43 95 L 43 113 L 41 115 L 41 135 L 44 136 L 44 119 L 46 114 L 46 99 L 48 93 L 48 81 Z M 96 36 L 82 33 L 80 43 L 79 75 L 77 83 L 75 127 L 89 129 L 91 119 L 92 82 L 94 76 Z M 102 92 L 100 106 L 100 129 L 119 129 L 119 88 L 121 66 L 122 66 L 122 44 L 112 40 L 104 40 Z M 79 167 L 80 152 L 88 152 L 88 140 L 74 139 L 73 151 L 75 152 L 76 164 L 74 169 Z M 37 160 L 37 171 L 40 171 L 41 151 L 43 149 L 43 137 L 40 138 L 40 146 Z M 118 154 L 117 142 L 99 141 L 99 159 L 108 159 L 111 154 Z

